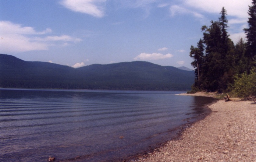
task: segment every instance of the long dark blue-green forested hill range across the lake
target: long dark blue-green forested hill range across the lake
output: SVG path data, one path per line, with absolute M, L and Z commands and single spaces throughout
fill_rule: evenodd
M 0 54 L 0 87 L 106 90 L 190 90 L 194 72 L 150 62 L 93 64 L 74 69 Z

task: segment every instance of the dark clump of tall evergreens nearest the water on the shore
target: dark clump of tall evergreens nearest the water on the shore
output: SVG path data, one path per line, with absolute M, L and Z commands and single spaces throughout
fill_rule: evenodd
M 197 68 L 194 86 L 200 85 L 201 89 L 208 91 L 225 91 L 227 85 L 233 82 L 235 73 L 235 46 L 227 33 L 228 20 L 224 7 L 220 14 L 219 21 L 211 21 L 210 26 L 202 26 L 203 40 L 198 42 L 197 48 L 190 48 L 190 57 L 194 58 L 191 65 Z M 199 54 L 203 61 L 197 67 Z

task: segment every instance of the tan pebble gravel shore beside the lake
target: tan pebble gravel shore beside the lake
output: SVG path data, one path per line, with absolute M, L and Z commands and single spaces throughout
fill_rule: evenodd
M 205 119 L 136 161 L 255 161 L 256 104 L 219 100 Z

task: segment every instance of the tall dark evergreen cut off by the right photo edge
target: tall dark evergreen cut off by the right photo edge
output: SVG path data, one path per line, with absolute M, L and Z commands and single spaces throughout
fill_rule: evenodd
M 256 59 L 256 0 L 253 0 L 252 5 L 249 6 L 248 14 L 248 28 L 244 29 L 247 38 L 247 47 L 245 52 L 245 56 L 248 59 L 247 71 L 255 66 L 254 59 Z

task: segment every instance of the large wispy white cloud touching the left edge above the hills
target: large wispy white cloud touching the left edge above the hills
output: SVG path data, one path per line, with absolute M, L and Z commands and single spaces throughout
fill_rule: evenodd
M 79 42 L 79 38 L 73 38 L 68 35 L 62 36 L 47 36 L 52 32 L 47 28 L 43 31 L 36 31 L 33 27 L 22 26 L 9 21 L 0 21 L 0 33 L 3 38 L 0 42 L 2 53 L 16 53 L 34 50 L 48 50 L 50 46 L 64 44 L 66 42 Z

